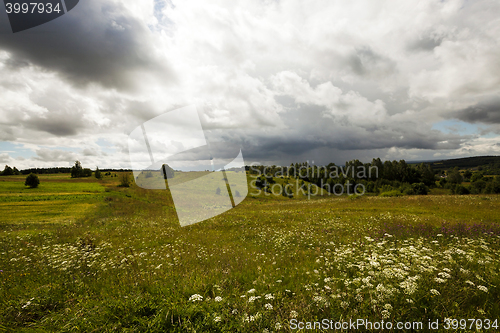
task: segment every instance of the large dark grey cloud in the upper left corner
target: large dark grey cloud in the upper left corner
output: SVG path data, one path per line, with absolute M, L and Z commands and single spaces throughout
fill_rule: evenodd
M 0 15 L 0 50 L 12 54 L 11 67 L 29 62 L 77 85 L 130 88 L 139 84 L 140 76 L 132 77 L 137 71 L 173 79 L 167 61 L 152 56 L 152 47 L 147 26 L 119 2 L 81 1 L 68 14 L 16 34 Z

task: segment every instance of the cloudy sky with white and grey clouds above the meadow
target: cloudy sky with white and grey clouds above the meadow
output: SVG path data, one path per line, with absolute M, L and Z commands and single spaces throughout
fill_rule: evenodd
M 13 33 L 0 3 L 0 165 L 129 168 L 195 105 L 246 164 L 500 155 L 497 0 L 82 0 Z M 235 156 L 236 157 L 236 156 Z

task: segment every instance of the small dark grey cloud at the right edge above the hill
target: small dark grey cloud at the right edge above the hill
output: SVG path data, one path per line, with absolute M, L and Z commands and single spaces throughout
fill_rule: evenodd
M 500 124 L 500 96 L 490 97 L 450 116 L 468 123 Z

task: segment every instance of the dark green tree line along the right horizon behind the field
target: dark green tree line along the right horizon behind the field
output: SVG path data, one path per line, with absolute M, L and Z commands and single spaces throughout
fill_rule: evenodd
M 484 172 L 458 168 L 434 170 L 430 163 L 408 164 L 405 160 L 385 161 L 380 158 L 370 163 L 352 160 L 344 166 L 330 163 L 317 166 L 309 162 L 292 163 L 289 166 L 247 166 L 246 170 L 259 176 L 256 185 L 265 188 L 273 183 L 273 177 L 297 178 L 324 190 L 331 191 L 335 185 L 362 184 L 367 192 L 387 196 L 403 194 L 427 194 L 430 188 L 445 188 L 453 194 L 500 193 L 500 178 L 486 177 Z M 470 184 L 462 184 L 470 182 Z

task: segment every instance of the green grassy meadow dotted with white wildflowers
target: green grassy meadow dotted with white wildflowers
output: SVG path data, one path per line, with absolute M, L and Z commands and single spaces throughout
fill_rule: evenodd
M 500 330 L 499 196 L 250 190 L 181 228 L 168 191 L 118 179 L 0 178 L 0 331 L 290 332 L 323 319 Z

